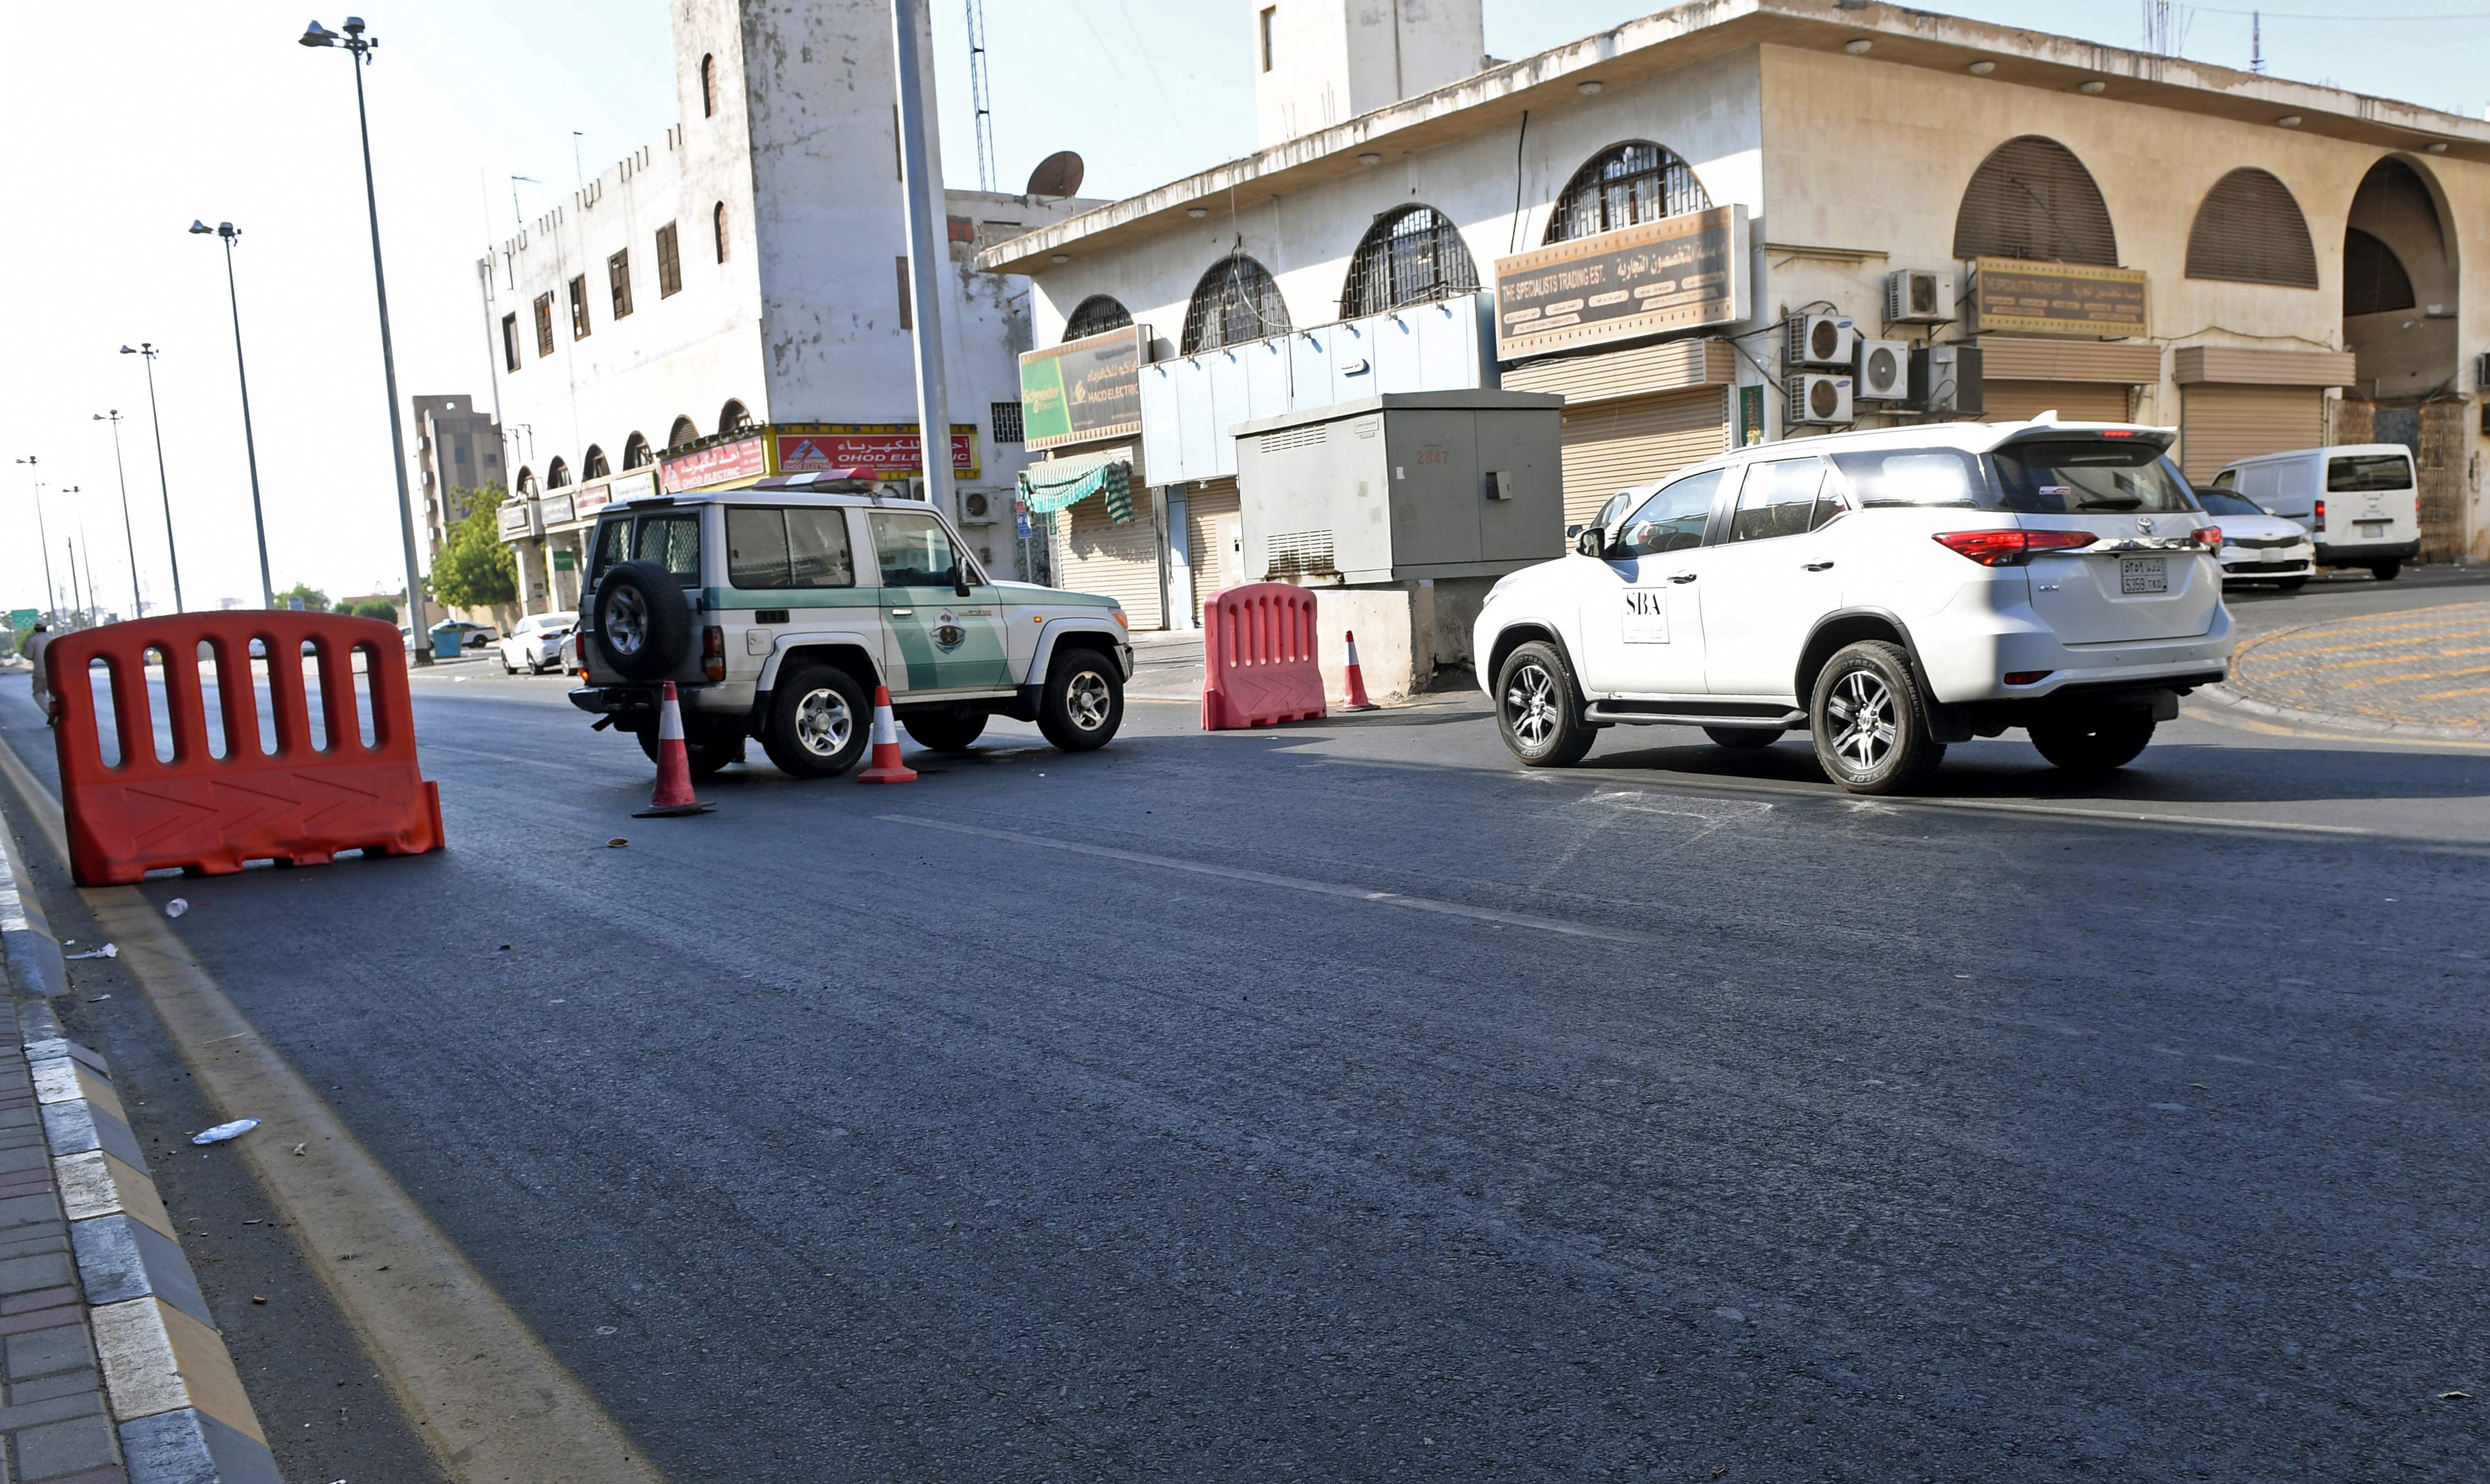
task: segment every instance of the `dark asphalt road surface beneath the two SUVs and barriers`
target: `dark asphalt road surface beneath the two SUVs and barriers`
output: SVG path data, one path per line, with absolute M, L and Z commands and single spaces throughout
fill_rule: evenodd
M 1999 740 L 1855 802 L 1671 730 L 1526 774 L 1474 697 L 1135 705 L 630 819 L 560 680 L 416 707 L 446 854 L 147 891 L 675 1479 L 2490 1457 L 2480 749 L 2191 707 L 2107 784 Z M 162 1028 L 75 1013 L 149 1135 Z M 239 1302 L 264 1412 L 344 1367 Z M 276 1444 L 431 1477 L 336 1437 Z

